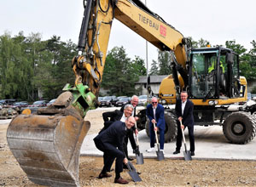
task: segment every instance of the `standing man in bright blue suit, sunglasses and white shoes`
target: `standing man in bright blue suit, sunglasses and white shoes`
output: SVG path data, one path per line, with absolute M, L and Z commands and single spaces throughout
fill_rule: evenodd
M 159 130 L 160 132 L 160 151 L 164 152 L 165 144 L 165 109 L 162 105 L 158 104 L 157 98 L 153 97 L 151 99 L 151 104 L 147 106 L 146 114 L 149 119 L 149 134 L 150 134 L 150 149 L 148 152 L 154 151 L 154 142 L 157 137 L 155 137 L 154 131 Z M 154 128 L 155 123 L 155 128 Z

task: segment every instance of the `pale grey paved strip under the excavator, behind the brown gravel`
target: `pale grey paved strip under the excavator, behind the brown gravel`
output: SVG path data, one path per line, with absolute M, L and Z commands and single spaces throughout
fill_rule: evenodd
M 97 134 L 90 134 L 84 138 L 81 147 L 81 156 L 102 156 L 102 151 L 97 150 L 93 139 Z M 156 158 L 156 153 L 148 153 L 149 138 L 145 130 L 138 134 L 140 151 L 144 158 Z M 189 149 L 189 135 L 185 130 L 185 138 Z M 199 127 L 195 126 L 195 160 L 245 160 L 256 161 L 256 138 L 247 144 L 230 144 L 225 139 L 221 126 Z M 155 146 L 156 148 L 156 146 Z M 165 157 L 170 159 L 183 159 L 183 149 L 181 153 L 173 155 L 176 148 L 176 141 L 165 144 Z M 135 158 L 131 145 L 128 143 L 128 155 Z

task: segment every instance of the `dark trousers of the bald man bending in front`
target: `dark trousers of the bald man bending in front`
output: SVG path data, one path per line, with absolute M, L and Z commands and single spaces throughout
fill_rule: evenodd
M 123 161 L 124 161 L 124 154 L 121 150 L 118 150 L 113 144 L 102 144 L 102 141 L 99 139 L 94 139 L 96 148 L 98 150 L 102 150 L 103 152 L 103 161 L 104 167 L 102 169 L 103 173 L 110 172 L 110 169 L 113 165 L 113 161 L 115 161 L 115 173 L 123 172 Z

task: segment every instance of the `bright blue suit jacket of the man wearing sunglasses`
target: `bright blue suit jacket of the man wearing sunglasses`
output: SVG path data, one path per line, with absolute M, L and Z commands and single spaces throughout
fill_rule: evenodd
M 146 115 L 148 116 L 148 119 L 150 121 L 150 125 L 153 125 L 151 122 L 154 119 L 154 111 L 152 104 L 147 105 L 147 111 Z M 164 106 L 158 104 L 155 110 L 155 119 L 156 127 L 159 127 L 161 130 L 166 129 L 166 121 L 165 121 L 165 108 Z

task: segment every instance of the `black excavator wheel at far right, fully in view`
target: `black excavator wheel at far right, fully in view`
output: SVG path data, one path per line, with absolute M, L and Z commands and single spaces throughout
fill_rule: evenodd
M 224 121 L 223 132 L 232 144 L 247 144 L 256 134 L 256 119 L 247 112 L 231 113 Z

